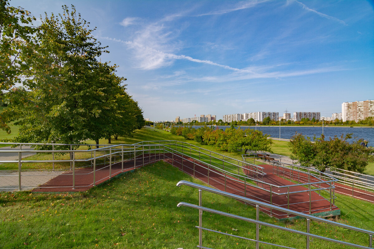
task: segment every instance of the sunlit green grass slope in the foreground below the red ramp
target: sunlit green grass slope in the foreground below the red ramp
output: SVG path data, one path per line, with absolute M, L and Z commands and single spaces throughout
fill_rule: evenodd
M 197 190 L 176 187 L 179 180 L 200 183 L 172 166 L 159 162 L 124 174 L 85 193 L 0 193 L 0 248 L 195 248 L 198 211 L 177 208 L 180 201 L 197 204 Z M 203 203 L 249 218 L 254 208 L 226 197 L 203 193 Z M 372 229 L 374 205 L 339 196 L 344 224 Z M 305 231 L 306 221 L 277 222 L 266 215 L 261 221 Z M 255 226 L 243 221 L 203 214 L 203 226 L 238 236 L 255 238 Z M 233 229 L 237 229 L 233 230 Z M 367 245 L 358 236 L 312 222 L 311 231 Z M 334 237 L 336 236 L 336 237 Z M 305 237 L 262 227 L 260 238 L 296 248 Z M 203 232 L 210 248 L 254 248 L 253 242 Z M 27 244 L 27 245 L 26 245 Z M 312 248 L 341 248 L 314 240 Z M 264 246 L 263 248 L 271 248 Z

